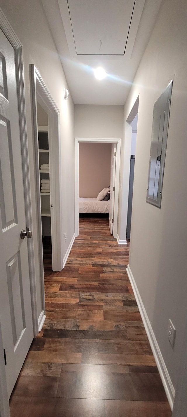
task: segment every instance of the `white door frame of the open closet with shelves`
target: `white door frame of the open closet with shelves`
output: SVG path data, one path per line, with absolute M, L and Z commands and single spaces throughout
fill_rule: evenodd
M 39 225 L 39 252 L 41 278 L 44 276 L 43 269 L 43 248 L 42 248 L 42 221 L 40 206 L 40 178 L 39 178 L 39 158 L 38 158 L 38 127 L 37 127 L 37 101 L 44 108 L 48 115 L 49 141 L 52 142 L 52 152 L 50 153 L 50 201 L 53 205 L 51 209 L 52 261 L 54 271 L 61 271 L 62 265 L 62 186 L 61 186 L 61 143 L 60 143 L 60 112 L 42 77 L 34 65 L 31 65 L 32 73 L 32 100 L 33 100 L 33 119 L 34 119 L 34 139 L 36 156 L 36 176 L 37 176 L 37 201 L 38 201 L 38 225 Z M 42 292 L 44 302 L 44 282 L 42 279 Z

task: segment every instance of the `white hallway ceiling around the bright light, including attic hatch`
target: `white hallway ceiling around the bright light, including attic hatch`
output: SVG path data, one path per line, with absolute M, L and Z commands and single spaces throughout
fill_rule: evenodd
M 42 0 L 74 103 L 125 103 L 161 2 Z

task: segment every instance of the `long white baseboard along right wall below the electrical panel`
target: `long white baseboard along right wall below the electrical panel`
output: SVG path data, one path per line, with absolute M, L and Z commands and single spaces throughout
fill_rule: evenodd
M 140 310 L 140 314 L 141 314 L 142 321 L 143 321 L 143 324 L 144 324 L 144 327 L 145 327 L 145 331 L 147 333 L 147 336 L 148 336 L 148 339 L 149 339 L 149 342 L 150 342 L 150 346 L 151 346 L 151 349 L 153 351 L 155 362 L 157 364 L 157 368 L 158 368 L 160 377 L 162 379 L 162 384 L 164 386 L 164 389 L 165 389 L 165 392 L 166 392 L 166 395 L 167 395 L 167 399 L 169 401 L 171 409 L 173 409 L 173 403 L 174 403 L 174 398 L 175 398 L 175 389 L 174 389 L 172 381 L 170 379 L 170 375 L 167 371 L 166 364 L 165 364 L 164 359 L 162 357 L 162 353 L 161 353 L 160 348 L 158 346 L 155 334 L 154 334 L 153 329 L 151 327 L 148 315 L 145 311 L 143 301 L 140 297 L 138 287 L 135 283 L 135 279 L 133 277 L 133 274 L 132 274 L 132 271 L 131 271 L 129 265 L 127 266 L 126 270 L 127 270 L 127 273 L 128 273 L 128 277 L 130 279 L 130 284 L 132 285 L 132 288 L 133 288 L 133 292 L 134 292 L 134 295 L 135 295 L 136 302 L 138 304 L 138 308 Z

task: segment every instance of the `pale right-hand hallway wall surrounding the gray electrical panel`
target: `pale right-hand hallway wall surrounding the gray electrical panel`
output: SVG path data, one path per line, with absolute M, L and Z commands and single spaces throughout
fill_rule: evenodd
M 125 131 L 130 110 L 140 94 L 129 263 L 174 387 L 187 317 L 186 16 L 185 0 L 163 1 L 124 109 Z M 153 105 L 172 78 L 159 209 L 146 203 Z M 127 146 L 128 141 L 127 131 Z M 123 163 L 125 169 L 125 158 Z M 122 179 L 124 185 L 125 178 Z M 176 328 L 174 348 L 167 339 L 169 318 Z

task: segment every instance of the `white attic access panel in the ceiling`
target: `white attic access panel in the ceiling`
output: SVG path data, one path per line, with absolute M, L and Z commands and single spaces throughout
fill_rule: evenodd
M 76 55 L 125 54 L 135 3 L 140 0 L 66 1 Z

